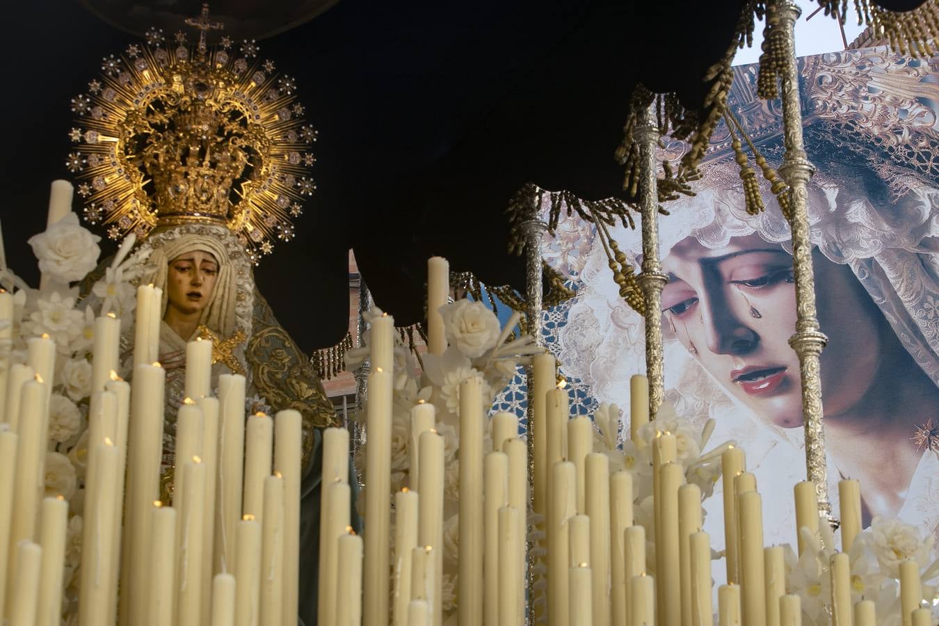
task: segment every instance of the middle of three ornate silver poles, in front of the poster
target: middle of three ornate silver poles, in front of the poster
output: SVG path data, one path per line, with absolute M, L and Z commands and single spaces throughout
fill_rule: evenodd
M 645 297 L 646 375 L 649 377 L 649 417 L 655 419 L 665 399 L 665 358 L 662 346 L 662 287 L 668 278 L 662 273 L 658 252 L 658 191 L 655 175 L 655 147 L 658 126 L 652 108 L 645 111 L 636 129 L 639 138 L 639 198 L 642 213 L 642 272 L 639 288 Z

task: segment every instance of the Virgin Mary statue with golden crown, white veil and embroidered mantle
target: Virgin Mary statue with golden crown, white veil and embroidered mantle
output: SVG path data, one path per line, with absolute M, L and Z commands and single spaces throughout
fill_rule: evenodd
M 167 45 L 153 30 L 146 45 L 108 57 L 100 80 L 72 100 L 81 128 L 72 130 L 80 145 L 69 166 L 84 180 L 85 219 L 108 225 L 115 239 L 135 234 L 139 283 L 162 289 L 165 474 L 174 465 L 186 344 L 196 338 L 213 344 L 213 394 L 221 374 L 242 374 L 246 414 L 300 412 L 300 623 L 311 626 L 321 432 L 336 417 L 310 360 L 257 291 L 253 267 L 275 241 L 293 237 L 290 218 L 315 189 L 306 168 L 316 131 L 300 117 L 293 79 L 271 75 L 273 64 L 257 59 L 253 42 L 236 51 L 223 39 L 209 49 L 205 35 L 194 46 L 178 35 Z M 129 328 L 125 373 L 133 343 Z

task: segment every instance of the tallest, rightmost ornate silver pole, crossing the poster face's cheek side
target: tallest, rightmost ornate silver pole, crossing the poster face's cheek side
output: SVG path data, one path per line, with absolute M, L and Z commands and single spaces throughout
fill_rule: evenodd
M 815 167 L 808 161 L 802 142 L 802 112 L 799 98 L 799 69 L 795 61 L 793 29 L 801 10 L 792 0 L 775 0 L 769 5 L 769 28 L 781 29 L 784 41 L 782 59 L 782 121 L 786 153 L 779 173 L 792 193 L 793 275 L 797 319 L 789 344 L 799 356 L 802 377 L 802 418 L 806 430 L 808 480 L 815 483 L 819 511 L 833 522 L 828 502 L 822 410 L 822 377 L 819 357 L 828 338 L 819 329 L 815 310 L 815 276 L 812 270 L 812 244 L 808 235 L 808 179 Z M 837 524 L 837 523 L 836 523 Z

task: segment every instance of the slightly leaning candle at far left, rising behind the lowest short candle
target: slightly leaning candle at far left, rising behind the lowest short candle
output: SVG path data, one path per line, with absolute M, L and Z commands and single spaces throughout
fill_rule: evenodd
M 23 540 L 33 541 L 39 499 L 45 482 L 46 439 L 44 436 L 46 413 L 46 384 L 35 380 L 23 384 L 20 401 L 20 441 L 16 456 L 16 482 L 13 486 L 13 519 L 9 529 L 8 572 L 19 568 L 17 546 Z M 15 576 L 8 576 L 7 597 L 16 586 Z

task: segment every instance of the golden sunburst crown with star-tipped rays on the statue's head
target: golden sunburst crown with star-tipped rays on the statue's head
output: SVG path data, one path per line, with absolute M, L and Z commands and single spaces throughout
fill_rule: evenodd
M 256 262 L 277 239 L 294 236 L 291 218 L 316 183 L 307 168 L 316 130 L 305 124 L 297 84 L 257 58 L 254 40 L 230 38 L 209 49 L 208 6 L 168 45 L 150 29 L 101 63 L 99 80 L 71 100 L 80 147 L 66 166 L 81 180 L 85 220 L 110 224 L 114 239 L 157 226 L 219 223 L 235 233 Z

